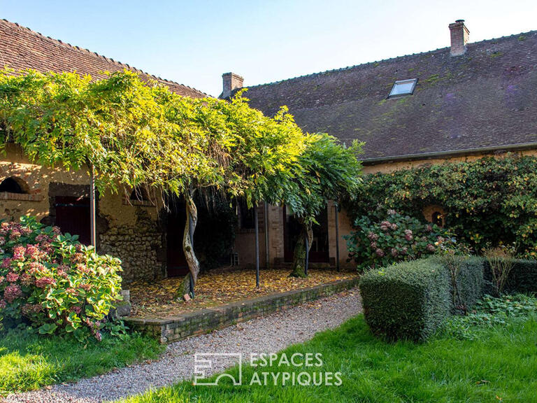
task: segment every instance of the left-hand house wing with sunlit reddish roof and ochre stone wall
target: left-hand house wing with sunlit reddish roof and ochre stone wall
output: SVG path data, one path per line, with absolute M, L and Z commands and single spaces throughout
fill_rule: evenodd
M 130 69 L 142 80 L 157 80 L 185 97 L 207 97 L 201 91 L 150 76 L 128 64 L 90 50 L 45 37 L 31 29 L 0 20 L 0 64 L 16 71 L 76 71 L 103 78 L 103 71 Z M 36 215 L 41 222 L 90 241 L 90 176 L 32 164 L 14 145 L 0 155 L 0 218 Z M 185 214 L 180 208 L 163 213 L 157 198 L 124 189 L 100 195 L 97 203 L 97 248 L 123 261 L 124 279 L 162 278 L 186 274 L 180 247 Z M 171 243 L 169 245 L 169 243 Z M 172 244 L 173 243 L 173 244 Z

